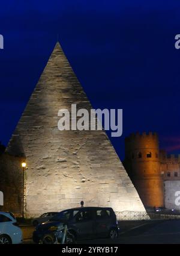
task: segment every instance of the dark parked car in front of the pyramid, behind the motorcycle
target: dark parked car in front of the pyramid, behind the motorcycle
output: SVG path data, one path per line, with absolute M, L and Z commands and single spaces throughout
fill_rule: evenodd
M 52 227 L 65 223 L 76 240 L 118 237 L 119 228 L 112 208 L 82 207 L 61 211 L 48 222 L 37 226 L 33 234 L 35 243 L 51 233 Z

